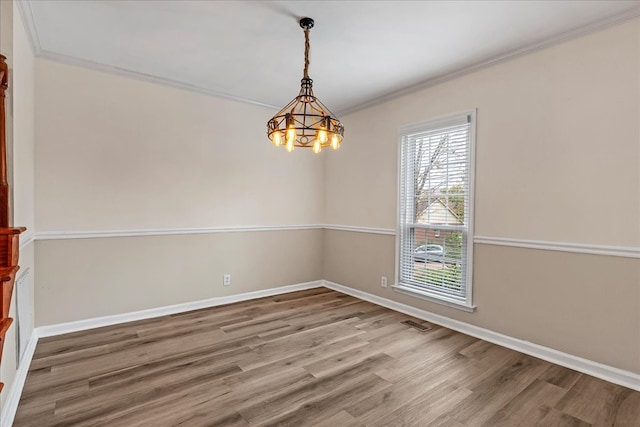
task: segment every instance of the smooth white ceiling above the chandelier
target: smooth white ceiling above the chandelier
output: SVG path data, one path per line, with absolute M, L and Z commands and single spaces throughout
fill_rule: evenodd
M 315 19 L 315 94 L 345 113 L 640 13 L 640 1 L 19 2 L 36 53 L 284 106 Z

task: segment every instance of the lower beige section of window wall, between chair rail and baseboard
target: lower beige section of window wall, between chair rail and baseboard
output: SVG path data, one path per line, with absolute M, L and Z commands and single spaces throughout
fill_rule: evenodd
M 640 260 L 492 245 L 474 248 L 475 313 L 380 286 L 395 237 L 325 231 L 323 277 L 585 359 L 640 372 Z

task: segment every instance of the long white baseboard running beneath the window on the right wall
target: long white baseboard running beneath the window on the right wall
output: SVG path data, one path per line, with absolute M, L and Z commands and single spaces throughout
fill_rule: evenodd
M 619 384 L 621 386 L 640 391 L 640 374 L 614 368 L 613 366 L 604 365 L 602 363 L 554 350 L 549 347 L 513 338 L 508 335 L 503 335 L 489 329 L 484 329 L 469 323 L 440 316 L 407 304 L 402 304 L 368 292 L 329 282 L 327 280 L 324 280 L 323 284 L 329 289 L 372 302 L 382 307 L 399 311 L 401 313 L 417 317 L 418 319 L 423 319 L 446 328 L 453 329 L 454 331 L 462 332 L 463 334 L 471 335 L 472 337 L 480 338 L 482 340 L 564 366 L 565 368 L 573 369 L 614 384 Z

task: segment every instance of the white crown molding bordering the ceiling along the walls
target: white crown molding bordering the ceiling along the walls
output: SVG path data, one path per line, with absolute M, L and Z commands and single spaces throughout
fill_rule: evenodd
M 57 61 L 57 62 L 61 62 L 61 63 L 65 63 L 65 64 L 69 64 L 69 65 L 75 65 L 75 66 L 80 66 L 80 67 L 85 67 L 85 68 L 89 68 L 89 69 L 94 69 L 97 71 L 102 71 L 102 72 L 106 72 L 106 73 L 112 73 L 112 74 L 117 74 L 117 75 L 121 75 L 121 76 L 125 76 L 125 77 L 132 77 L 138 80 L 144 80 L 144 81 L 148 81 L 148 82 L 152 82 L 152 83 L 156 83 L 156 84 L 161 84 L 161 85 L 166 85 L 166 86 L 171 86 L 171 87 L 175 87 L 178 89 L 183 89 L 183 90 L 187 90 L 187 91 L 191 91 L 191 92 L 196 92 L 196 93 L 201 93 L 204 95 L 209 95 L 209 96 L 214 96 L 217 98 L 222 98 L 222 99 L 227 99 L 227 100 L 232 100 L 232 101 L 237 101 L 237 102 L 242 102 L 242 103 L 246 103 L 246 104 L 251 104 L 251 105 L 256 105 L 256 106 L 260 106 L 260 107 L 266 107 L 266 108 L 270 108 L 270 109 L 274 109 L 274 110 L 279 110 L 281 107 L 277 106 L 277 105 L 271 105 L 271 104 L 267 104 L 264 102 L 260 102 L 254 99 L 248 99 L 248 98 L 243 98 L 243 97 L 239 97 L 239 96 L 235 96 L 232 94 L 228 94 L 228 93 L 224 93 L 224 92 L 219 92 L 216 90 L 212 90 L 212 89 L 207 89 L 207 88 L 203 88 L 200 86 L 195 86 L 195 85 L 190 85 L 188 83 L 184 83 L 184 82 L 180 82 L 177 80 L 172 80 L 172 79 L 168 79 L 168 78 L 162 78 L 162 77 L 155 77 L 155 76 L 151 76 L 148 74 L 144 74 L 144 73 L 139 73 L 139 72 L 135 72 L 135 71 L 129 71 L 129 70 L 125 70 L 125 69 L 121 69 L 121 68 L 117 68 L 117 67 L 113 67 L 113 66 L 109 66 L 109 65 L 105 65 L 105 64 L 100 64 L 100 63 L 96 63 L 96 62 L 92 62 L 92 61 L 87 61 L 87 60 L 83 60 L 83 59 L 79 59 L 79 58 L 74 58 L 74 57 L 70 57 L 70 56 L 66 56 L 66 55 L 61 55 L 61 54 L 57 54 L 54 52 L 50 52 L 50 51 L 46 51 L 44 49 L 42 49 L 42 44 L 40 43 L 40 37 L 38 35 L 38 30 L 36 28 L 35 25 L 35 20 L 33 17 L 33 10 L 31 9 L 31 4 L 30 1 L 27 0 L 17 0 L 16 4 L 18 5 L 18 9 L 20 11 L 20 16 L 22 17 L 22 21 L 24 23 L 25 29 L 27 31 L 27 36 L 29 39 L 29 42 L 31 44 L 31 48 L 33 50 L 34 56 L 38 57 L 38 58 L 45 58 L 45 59 L 49 59 L 52 61 Z M 626 12 L 617 14 L 617 15 L 613 15 L 607 18 L 604 18 L 602 20 L 596 21 L 596 22 L 592 22 L 590 24 L 587 25 L 583 25 L 581 27 L 578 28 L 574 28 L 573 30 L 569 30 L 569 31 L 565 31 L 563 33 L 560 34 L 556 34 L 552 37 L 548 37 L 546 39 L 540 40 L 538 42 L 532 43 L 528 46 L 525 46 L 523 48 L 520 49 L 516 49 L 514 51 L 505 53 L 505 54 L 501 54 L 501 55 L 497 55 L 491 58 L 488 58 L 484 61 L 481 62 L 477 62 L 475 64 L 471 64 L 467 67 L 464 67 L 462 69 L 459 69 L 457 71 L 453 71 L 450 73 L 446 73 L 440 76 L 436 76 L 434 78 L 430 78 L 427 79 L 425 81 L 422 81 L 418 84 L 415 85 L 411 85 L 408 87 L 405 87 L 403 89 L 399 89 L 397 91 L 393 91 L 390 93 L 386 93 L 384 95 L 375 97 L 369 101 L 366 102 L 362 102 L 360 104 L 356 104 L 353 105 L 351 107 L 347 107 L 341 110 L 337 110 L 337 115 L 347 115 L 347 114 L 351 114 L 354 113 L 356 111 L 359 110 L 363 110 L 365 108 L 368 107 L 372 107 L 374 105 L 377 104 L 381 104 L 383 102 L 401 97 L 403 95 L 407 95 L 409 93 L 413 93 L 422 89 L 426 89 L 428 87 L 431 86 L 435 86 L 441 83 L 444 83 L 446 81 L 449 80 L 453 80 L 455 78 L 464 76 L 466 74 L 470 74 L 473 73 L 475 71 L 484 69 L 484 68 L 488 68 L 492 65 L 496 65 L 499 64 L 501 62 L 505 62 L 508 61 L 510 59 L 513 58 L 517 58 L 519 56 L 523 56 L 526 55 L 528 53 L 531 52 L 535 52 L 537 50 L 541 50 L 574 38 L 578 38 L 590 33 L 594 33 L 596 31 L 600 31 L 609 27 L 612 27 L 614 25 L 620 24 L 622 22 L 631 20 L 633 18 L 636 18 L 640 16 L 640 7 L 635 8 L 635 9 L 630 9 Z

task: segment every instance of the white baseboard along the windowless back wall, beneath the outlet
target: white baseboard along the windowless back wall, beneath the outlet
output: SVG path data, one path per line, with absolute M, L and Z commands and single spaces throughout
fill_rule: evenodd
M 248 301 L 305 289 L 319 288 L 321 280 L 298 283 L 295 285 L 281 286 L 279 288 L 264 289 L 261 291 L 246 292 L 243 294 L 229 295 L 226 297 L 209 298 L 182 304 L 168 305 L 151 308 L 148 310 L 134 311 L 131 313 L 114 314 L 111 316 L 95 317 L 92 319 L 78 320 L 75 322 L 58 323 L 56 325 L 40 326 L 36 328 L 38 337 L 50 337 L 54 335 L 68 334 L 70 332 L 84 331 L 87 329 L 112 326 L 119 323 L 133 322 L 135 320 L 151 319 L 153 317 L 166 316 L 168 314 L 183 313 L 185 311 L 199 310 L 201 308 L 216 307 L 219 305 L 233 304 L 234 302 Z

